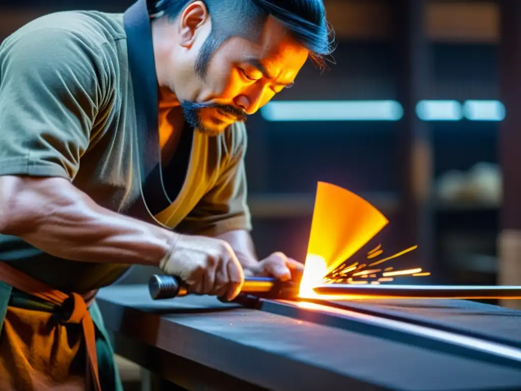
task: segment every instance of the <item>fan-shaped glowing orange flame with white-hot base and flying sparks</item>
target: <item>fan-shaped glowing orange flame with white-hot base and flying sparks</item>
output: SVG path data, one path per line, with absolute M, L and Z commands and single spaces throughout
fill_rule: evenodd
M 319 295 L 314 288 L 336 282 L 378 285 L 392 281 L 391 276 L 429 275 L 420 268 L 393 271 L 392 267 L 386 267 L 383 271 L 381 268 L 365 270 L 368 265 L 358 262 L 348 266 L 345 260 L 365 246 L 388 223 L 388 219 L 363 198 L 338 186 L 319 182 L 299 297 L 324 300 L 368 299 L 371 296 Z M 370 263 L 369 266 L 398 258 L 416 248 L 417 246 L 410 247 Z M 374 259 L 383 252 L 382 245 L 378 245 L 367 252 L 367 259 Z

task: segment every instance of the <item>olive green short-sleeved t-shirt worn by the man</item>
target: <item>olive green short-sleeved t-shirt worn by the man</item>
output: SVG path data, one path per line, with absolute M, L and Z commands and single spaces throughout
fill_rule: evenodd
M 49 14 L 10 35 L 0 46 L 0 175 L 63 177 L 131 214 L 143 194 L 134 106 L 143 92 L 131 78 L 122 14 Z M 208 236 L 250 230 L 245 150 L 242 123 L 217 137 L 195 131 L 184 185 L 156 224 Z M 77 292 L 111 284 L 129 266 L 59 259 L 5 235 L 0 260 Z

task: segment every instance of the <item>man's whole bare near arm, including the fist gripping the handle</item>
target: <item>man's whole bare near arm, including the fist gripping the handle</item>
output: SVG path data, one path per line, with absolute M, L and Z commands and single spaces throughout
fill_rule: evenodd
M 63 178 L 0 176 L 0 233 L 68 260 L 159 266 L 190 291 L 228 300 L 244 279 L 224 240 L 179 235 L 112 212 Z

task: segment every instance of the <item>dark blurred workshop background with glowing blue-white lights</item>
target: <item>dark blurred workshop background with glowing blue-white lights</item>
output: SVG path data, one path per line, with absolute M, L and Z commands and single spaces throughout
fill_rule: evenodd
M 131 3 L 2 0 L 0 39 L 52 11 L 120 12 Z M 501 34 L 500 22 L 501 6 L 514 3 L 326 0 L 336 64 L 306 66 L 294 88 L 247 122 L 258 255 L 304 260 L 316 183 L 329 181 L 389 217 L 377 238 L 388 252 L 419 246 L 395 267 L 423 267 L 438 283 L 497 284 L 500 230 L 521 228 L 521 192 L 509 192 L 508 210 L 502 202 L 503 182 L 517 179 L 521 142 L 500 142 L 515 140 L 519 128 L 518 108 L 502 101 L 520 98 L 507 77 L 516 76 L 521 40 Z M 148 273 L 137 268 L 123 283 Z

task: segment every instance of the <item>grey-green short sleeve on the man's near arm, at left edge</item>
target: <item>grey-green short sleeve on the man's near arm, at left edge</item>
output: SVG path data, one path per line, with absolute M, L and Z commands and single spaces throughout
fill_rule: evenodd
M 0 47 L 0 175 L 73 179 L 100 107 L 100 51 L 68 30 Z

